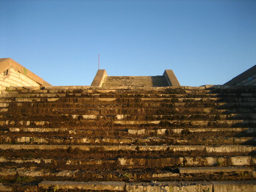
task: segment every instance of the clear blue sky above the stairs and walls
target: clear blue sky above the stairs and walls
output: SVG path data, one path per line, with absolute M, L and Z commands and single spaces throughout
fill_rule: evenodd
M 172 69 L 224 84 L 256 64 L 255 0 L 0 0 L 0 58 L 52 85 Z

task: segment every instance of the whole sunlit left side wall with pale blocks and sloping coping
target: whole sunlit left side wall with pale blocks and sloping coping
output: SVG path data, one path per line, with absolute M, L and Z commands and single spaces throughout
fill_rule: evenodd
M 10 86 L 51 86 L 11 58 L 0 59 L 0 90 Z

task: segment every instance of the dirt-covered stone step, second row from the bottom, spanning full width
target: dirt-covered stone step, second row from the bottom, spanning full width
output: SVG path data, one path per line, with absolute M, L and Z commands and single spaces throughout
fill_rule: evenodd
M 49 180 L 76 180 L 76 181 L 88 181 L 88 180 L 98 180 L 98 181 L 173 181 L 173 180 L 183 180 L 193 182 L 198 180 L 252 180 L 255 177 L 252 175 L 252 171 L 245 171 L 247 169 L 241 168 L 229 169 L 230 172 L 220 172 L 216 167 L 217 174 L 210 173 L 196 173 L 193 176 L 184 177 L 184 173 L 179 173 L 175 169 L 159 170 L 151 168 L 148 169 L 124 169 L 124 170 L 83 170 L 83 169 L 40 169 L 40 168 L 27 168 L 27 167 L 17 167 L 17 168 L 0 168 L 0 177 L 5 179 L 17 179 L 18 177 L 29 177 L 31 180 L 34 178 L 36 180 L 43 180 L 47 178 Z M 223 169 L 224 171 L 224 169 Z M 240 172 L 239 172 L 240 171 Z M 214 172 L 214 170 L 213 170 Z M 220 173 L 222 176 L 220 177 Z M 196 175 L 196 177 L 194 177 Z

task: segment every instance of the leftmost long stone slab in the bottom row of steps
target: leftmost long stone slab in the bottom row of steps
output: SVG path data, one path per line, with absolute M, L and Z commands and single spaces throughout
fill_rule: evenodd
M 124 191 L 125 182 L 122 181 L 47 181 L 38 183 L 39 188 L 52 189 L 80 189 L 80 190 L 109 190 Z

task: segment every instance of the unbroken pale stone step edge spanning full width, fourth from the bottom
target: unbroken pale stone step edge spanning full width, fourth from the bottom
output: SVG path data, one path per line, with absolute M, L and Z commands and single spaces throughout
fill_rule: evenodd
M 214 154 L 248 154 L 256 150 L 255 146 L 251 145 L 220 145 L 220 146 L 204 146 L 204 145 L 174 145 L 174 146 L 127 146 L 127 145 L 111 145 L 111 146 L 98 146 L 98 145 L 13 145 L 13 144 L 0 144 L 0 150 L 63 150 L 63 151 L 204 151 L 205 153 Z

